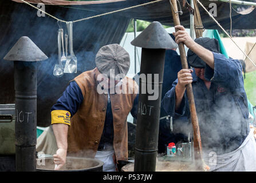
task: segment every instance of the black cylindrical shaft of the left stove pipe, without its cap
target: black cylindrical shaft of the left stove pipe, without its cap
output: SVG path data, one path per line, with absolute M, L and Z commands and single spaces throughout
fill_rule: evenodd
M 37 62 L 14 61 L 16 170 L 36 170 Z

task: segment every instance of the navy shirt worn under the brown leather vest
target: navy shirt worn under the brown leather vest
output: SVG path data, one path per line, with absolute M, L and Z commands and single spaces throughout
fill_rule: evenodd
M 137 118 L 137 105 L 138 105 L 139 95 L 135 98 L 133 102 L 133 108 L 131 114 L 134 118 Z M 66 110 L 70 112 L 71 117 L 76 114 L 79 106 L 82 104 L 84 97 L 82 96 L 82 91 L 75 81 L 69 83 L 66 90 L 62 96 L 57 100 L 56 104 L 53 105 L 52 110 Z M 89 105 L 89 104 L 88 104 Z M 98 150 L 108 150 L 108 147 L 112 147 L 114 138 L 113 129 L 113 114 L 111 109 L 111 101 L 109 100 L 106 110 L 105 122 L 103 133 L 101 135 L 100 144 Z

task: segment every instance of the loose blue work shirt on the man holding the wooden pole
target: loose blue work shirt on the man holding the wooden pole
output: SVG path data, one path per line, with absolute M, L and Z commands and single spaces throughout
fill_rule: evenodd
M 242 65 L 225 55 L 214 53 L 214 69 L 206 65 L 204 78 L 211 81 L 208 90 L 204 81 L 192 73 L 192 89 L 198 115 L 204 152 L 229 153 L 237 149 L 249 134 L 247 97 L 243 86 Z M 170 116 L 190 117 L 187 94 L 175 112 L 175 86 L 172 84 L 162 100 Z

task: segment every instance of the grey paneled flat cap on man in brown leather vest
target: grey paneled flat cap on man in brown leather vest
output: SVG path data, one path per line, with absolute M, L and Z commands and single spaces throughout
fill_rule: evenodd
M 108 78 L 122 74 L 124 78 L 130 67 L 129 53 L 118 44 L 111 44 L 101 47 L 96 54 L 96 67 L 101 74 L 107 74 Z M 110 71 L 115 70 L 115 75 Z

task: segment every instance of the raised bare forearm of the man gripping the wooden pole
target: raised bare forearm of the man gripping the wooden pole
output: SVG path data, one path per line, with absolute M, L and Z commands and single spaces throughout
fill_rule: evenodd
M 198 43 L 195 43 L 190 47 L 190 49 L 204 62 L 206 62 L 206 64 L 210 66 L 211 69 L 214 69 L 214 55 L 210 50 L 207 50 L 203 46 L 198 45 Z

